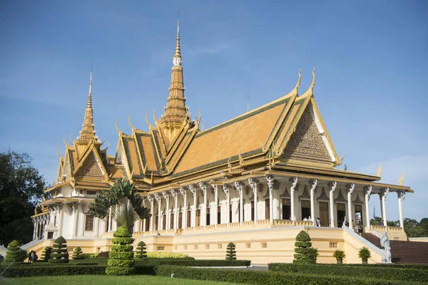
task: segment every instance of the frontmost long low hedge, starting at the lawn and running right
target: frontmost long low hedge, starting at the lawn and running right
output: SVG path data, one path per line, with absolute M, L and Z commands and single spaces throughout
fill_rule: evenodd
M 412 281 L 393 281 L 384 279 L 370 279 L 350 276 L 327 276 L 315 274 L 293 274 L 275 271 L 254 271 L 242 269 L 200 269 L 183 266 L 158 266 L 157 276 L 171 276 L 176 278 L 198 279 L 209 281 L 223 281 L 240 284 L 318 284 L 318 285 L 410 285 L 420 284 Z

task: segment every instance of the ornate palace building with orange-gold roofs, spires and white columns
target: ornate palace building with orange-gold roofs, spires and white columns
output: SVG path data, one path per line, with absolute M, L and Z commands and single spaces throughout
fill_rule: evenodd
M 381 262 L 384 250 L 364 233 L 407 240 L 402 203 L 409 187 L 380 182 L 377 175 L 339 170 L 337 155 L 322 120 L 312 84 L 300 93 L 297 84 L 285 96 L 243 115 L 201 130 L 186 105 L 179 25 L 169 95 L 161 118 L 154 116 L 148 132 L 116 125 L 118 145 L 111 156 L 98 140 L 93 124 L 92 78 L 83 126 L 76 140 L 64 142 L 49 199 L 34 214 L 34 241 L 24 248 L 36 252 L 67 240 L 68 249 L 109 250 L 116 229 L 112 214 L 89 214 L 99 190 L 123 177 L 138 187 L 148 219 L 133 229 L 151 252 L 180 252 L 199 259 L 224 259 L 229 242 L 238 259 L 253 264 L 291 262 L 302 229 L 319 250 L 319 262 L 334 262 L 332 252 L 344 249 L 345 262 L 359 263 L 358 250 L 369 247 L 370 262 Z M 92 75 L 91 75 L 92 77 Z M 154 115 L 154 114 L 153 114 Z M 369 200 L 379 195 L 383 224 L 385 200 L 397 199 L 400 227 L 370 225 Z M 110 213 L 113 209 L 110 211 Z

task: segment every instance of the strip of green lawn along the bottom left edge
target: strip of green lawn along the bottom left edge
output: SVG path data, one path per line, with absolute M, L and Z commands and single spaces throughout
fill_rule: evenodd
M 61 285 L 84 285 L 84 284 L 108 284 L 108 285 L 233 285 L 234 283 L 215 282 L 215 281 L 199 281 L 189 279 L 177 279 L 170 277 L 157 276 L 105 276 L 105 275 L 77 275 L 77 276 L 46 276 L 46 277 L 25 277 L 25 278 L 1 278 L 1 285 L 22 284 L 22 285 L 46 285 L 46 284 L 61 284 Z M 237 285 L 237 284 L 235 284 Z

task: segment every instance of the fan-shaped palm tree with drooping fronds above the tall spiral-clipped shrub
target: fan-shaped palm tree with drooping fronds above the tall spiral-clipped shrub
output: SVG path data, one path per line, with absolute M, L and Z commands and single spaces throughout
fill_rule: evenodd
M 95 217 L 103 219 L 113 207 L 113 220 L 118 227 L 125 225 L 133 232 L 133 225 L 138 218 L 151 217 L 149 210 L 143 206 L 143 199 L 138 194 L 136 185 L 129 180 L 119 178 L 110 190 L 101 190 L 95 201 L 89 206 L 89 212 Z

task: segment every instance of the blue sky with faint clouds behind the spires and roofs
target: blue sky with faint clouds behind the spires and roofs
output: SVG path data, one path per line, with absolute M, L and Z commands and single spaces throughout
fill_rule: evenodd
M 297 3 L 298 2 L 298 3 Z M 168 97 L 178 1 L 1 1 L 1 151 L 28 152 L 49 182 L 78 135 L 93 62 L 97 135 L 147 130 Z M 347 170 L 414 189 L 404 217 L 428 217 L 426 1 L 180 1 L 185 96 L 205 128 L 300 93 L 315 98 Z M 69 140 L 68 140 L 69 141 Z M 379 198 L 370 200 L 379 215 Z M 389 194 L 387 218 L 398 219 Z

